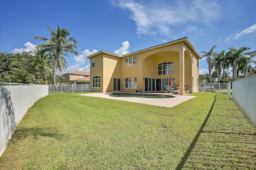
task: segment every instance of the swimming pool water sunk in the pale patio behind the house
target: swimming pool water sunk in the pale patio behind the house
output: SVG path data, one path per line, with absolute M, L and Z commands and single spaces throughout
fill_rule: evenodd
M 111 93 L 112 97 L 132 97 L 132 98 L 155 98 L 155 99 L 165 99 L 174 98 L 174 96 L 162 95 L 162 94 L 131 94 L 131 93 Z

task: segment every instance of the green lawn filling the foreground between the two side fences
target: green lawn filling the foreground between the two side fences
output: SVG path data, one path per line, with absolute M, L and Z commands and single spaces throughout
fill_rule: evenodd
M 225 95 L 172 108 L 46 96 L 16 128 L 0 169 L 255 169 L 256 129 Z

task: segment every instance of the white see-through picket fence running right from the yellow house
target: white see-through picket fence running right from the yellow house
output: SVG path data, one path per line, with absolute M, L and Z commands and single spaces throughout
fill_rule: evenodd
M 198 83 L 192 86 L 193 93 L 228 94 L 228 83 Z

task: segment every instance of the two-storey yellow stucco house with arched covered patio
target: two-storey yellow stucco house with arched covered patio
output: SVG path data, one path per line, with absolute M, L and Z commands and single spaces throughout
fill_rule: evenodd
M 127 55 L 100 51 L 90 59 L 90 92 L 162 92 L 169 85 L 198 83 L 200 54 L 187 37 Z M 190 87 L 191 88 L 191 87 Z

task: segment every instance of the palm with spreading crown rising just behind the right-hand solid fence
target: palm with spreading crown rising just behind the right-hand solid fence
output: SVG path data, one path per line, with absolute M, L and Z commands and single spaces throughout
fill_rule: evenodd
M 250 47 L 241 47 L 240 49 L 237 49 L 236 47 L 229 48 L 227 55 L 231 63 L 231 66 L 233 67 L 233 80 L 236 80 L 238 76 L 237 70 L 238 66 L 240 65 L 240 62 L 243 60 L 244 57 L 250 55 L 250 53 L 247 52 L 250 49 Z

